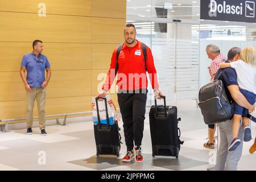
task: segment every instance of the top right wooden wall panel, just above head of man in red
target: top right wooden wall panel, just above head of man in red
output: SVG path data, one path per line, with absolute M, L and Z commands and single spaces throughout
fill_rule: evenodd
M 92 16 L 126 18 L 126 1 L 92 0 Z

